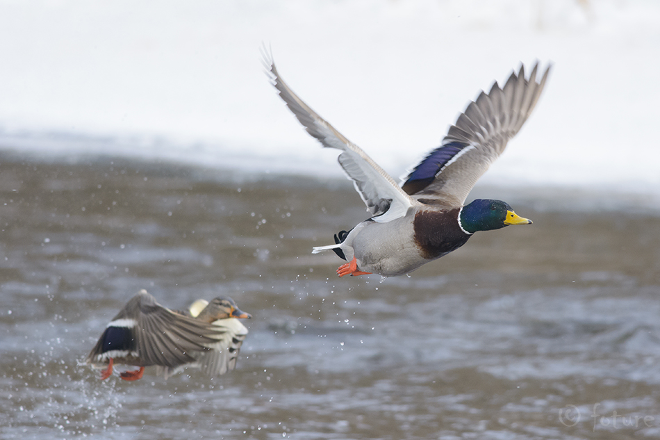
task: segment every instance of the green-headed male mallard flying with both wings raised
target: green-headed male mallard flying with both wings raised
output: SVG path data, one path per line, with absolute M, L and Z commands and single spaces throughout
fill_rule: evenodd
M 333 250 L 349 261 L 338 268 L 340 277 L 404 275 L 458 249 L 477 231 L 531 223 L 500 200 L 463 203 L 531 114 L 550 67 L 537 82 L 538 63 L 529 79 L 521 66 L 503 88 L 495 83 L 490 92 L 481 92 L 449 127 L 440 147 L 422 159 L 399 186 L 360 147 L 295 95 L 265 51 L 264 63 L 279 96 L 307 132 L 324 147 L 342 150 L 339 163 L 372 215 L 336 235 L 336 244 L 313 249 L 313 253 Z

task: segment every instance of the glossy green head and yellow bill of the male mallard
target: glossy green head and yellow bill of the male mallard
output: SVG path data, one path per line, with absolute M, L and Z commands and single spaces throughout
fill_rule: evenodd
M 474 234 L 509 225 L 529 225 L 531 220 L 520 217 L 508 203 L 501 200 L 476 199 L 463 206 L 459 222 L 465 231 Z

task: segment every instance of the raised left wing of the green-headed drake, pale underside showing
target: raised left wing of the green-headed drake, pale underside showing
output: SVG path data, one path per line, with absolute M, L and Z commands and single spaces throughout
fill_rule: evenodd
M 413 205 L 413 199 L 406 194 L 397 182 L 390 177 L 363 150 L 350 142 L 322 117 L 317 115 L 302 99 L 282 81 L 275 68 L 272 56 L 262 51 L 263 63 L 272 84 L 289 110 L 305 127 L 307 133 L 319 140 L 324 147 L 342 150 L 339 163 L 355 189 L 367 205 L 367 211 L 377 222 L 388 222 L 406 215 Z

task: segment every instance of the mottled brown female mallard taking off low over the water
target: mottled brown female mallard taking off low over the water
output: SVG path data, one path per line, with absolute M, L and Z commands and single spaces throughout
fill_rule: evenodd
M 199 356 L 215 350 L 227 338 L 226 329 L 213 325 L 211 321 L 229 316 L 250 317 L 231 300 L 222 302 L 222 307 L 220 301 L 214 300 L 211 304 L 201 319 L 185 316 L 161 306 L 152 295 L 142 290 L 108 323 L 87 363 L 107 365 L 101 370 L 101 380 L 112 375 L 115 363 L 140 367 L 121 373 L 124 380 L 142 378 L 146 366 L 174 369 L 193 364 Z M 215 318 L 210 318 L 211 315 Z

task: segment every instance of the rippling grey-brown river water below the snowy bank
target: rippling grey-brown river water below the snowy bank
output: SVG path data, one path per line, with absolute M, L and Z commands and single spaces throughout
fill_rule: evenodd
M 479 188 L 534 225 L 410 277 L 339 279 L 311 247 L 366 216 L 343 179 L 4 152 L 0 193 L 2 439 L 660 436 L 660 215 L 643 197 Z M 252 313 L 236 370 L 80 365 L 140 288 Z

